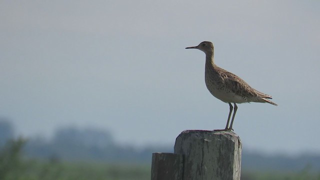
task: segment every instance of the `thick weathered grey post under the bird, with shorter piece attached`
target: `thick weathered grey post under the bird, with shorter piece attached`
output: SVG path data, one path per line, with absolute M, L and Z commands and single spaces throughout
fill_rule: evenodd
M 157 156 L 156 153 L 152 154 L 151 180 L 240 179 L 241 141 L 234 132 L 185 130 L 175 139 L 173 154 L 176 155 L 169 157 L 167 154 L 172 153 L 162 153 L 162 161 L 153 158 Z M 170 159 L 170 162 L 163 159 Z M 163 164 L 171 162 L 182 163 L 182 172 L 178 168 L 171 168 L 172 165 L 167 169 L 163 168 L 166 166 Z M 156 168 L 155 164 L 162 164 L 162 169 Z M 179 174 L 177 172 L 181 172 L 181 176 L 169 175 Z M 166 174 L 166 176 L 154 178 L 154 174 Z

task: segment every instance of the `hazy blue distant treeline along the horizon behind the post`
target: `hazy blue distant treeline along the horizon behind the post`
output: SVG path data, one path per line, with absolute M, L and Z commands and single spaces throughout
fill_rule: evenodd
M 0 119 L 0 147 L 13 138 L 11 123 Z M 45 140 L 30 137 L 26 140 L 23 154 L 31 158 L 44 158 L 64 161 L 103 161 L 151 163 L 152 152 L 172 152 L 173 144 L 166 146 L 150 145 L 135 148 L 132 145 L 119 145 L 107 130 L 94 128 L 62 127 L 53 138 Z M 265 155 L 242 149 L 241 169 L 247 170 L 302 170 L 320 171 L 319 154 L 302 154 L 297 157 Z

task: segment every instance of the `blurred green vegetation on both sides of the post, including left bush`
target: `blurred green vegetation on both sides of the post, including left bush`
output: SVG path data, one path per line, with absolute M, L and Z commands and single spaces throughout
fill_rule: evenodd
M 1 180 L 72 180 L 110 179 L 146 180 L 150 179 L 151 162 L 148 164 L 106 163 L 88 161 L 61 161 L 52 157 L 47 160 L 26 159 L 21 155 L 23 140 L 12 141 L 0 150 Z M 310 172 L 307 166 L 298 172 L 250 171 L 242 170 L 242 180 L 320 180 L 319 172 Z

